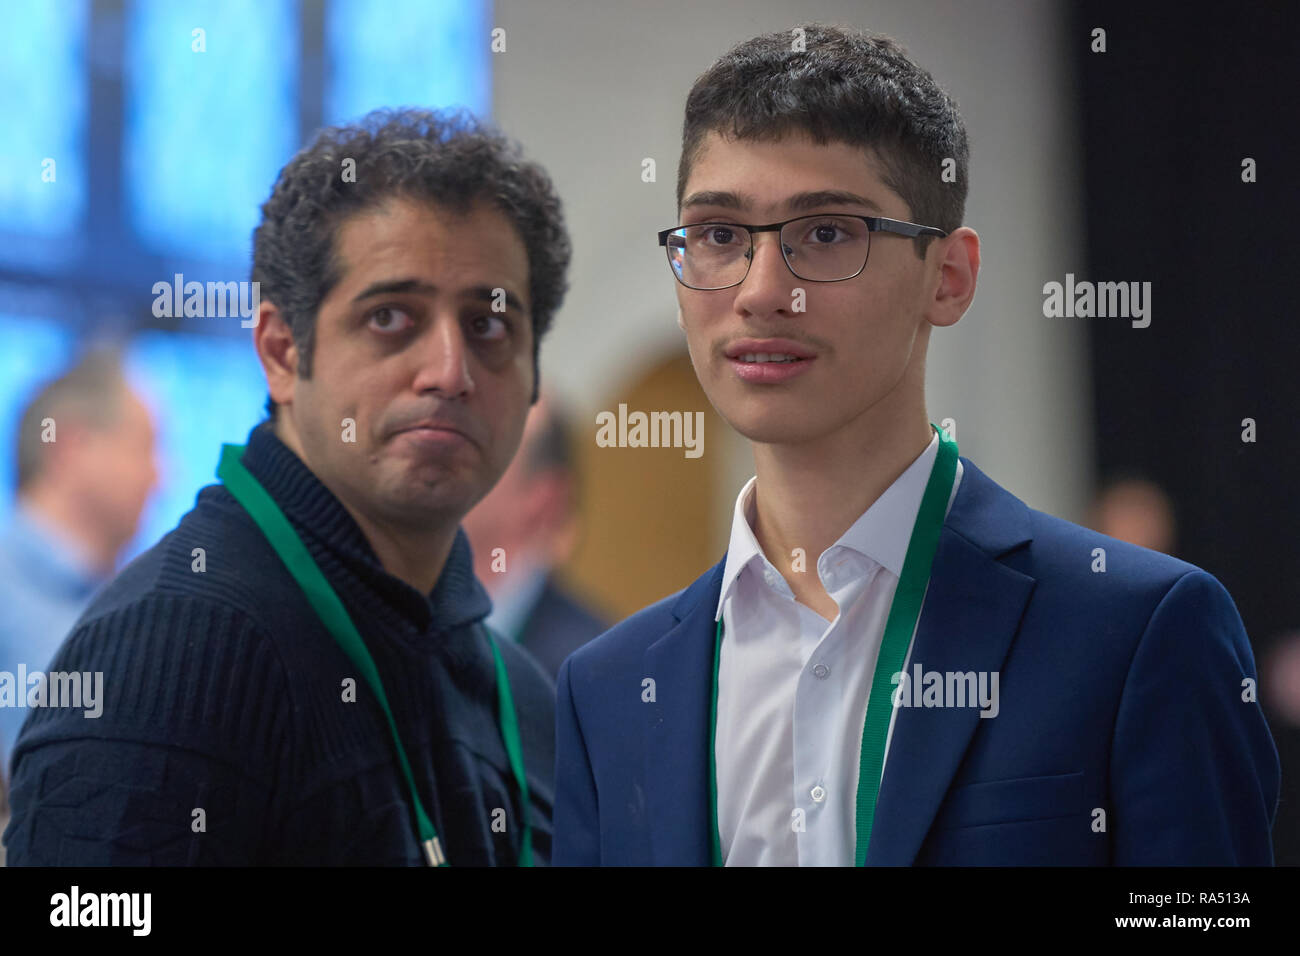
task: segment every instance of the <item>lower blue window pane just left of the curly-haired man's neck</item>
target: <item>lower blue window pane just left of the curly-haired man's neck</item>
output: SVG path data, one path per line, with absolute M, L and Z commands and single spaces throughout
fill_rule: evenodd
M 242 336 L 143 333 L 126 351 L 126 375 L 153 412 L 159 485 L 124 561 L 156 544 L 199 489 L 216 484 L 222 442 L 243 445 L 266 402 L 261 363 Z

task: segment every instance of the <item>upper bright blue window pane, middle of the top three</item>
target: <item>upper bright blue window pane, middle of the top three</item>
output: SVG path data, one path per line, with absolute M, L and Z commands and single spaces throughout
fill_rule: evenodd
M 298 146 L 298 4 L 134 0 L 125 47 L 131 226 L 156 252 L 242 277 L 259 207 Z

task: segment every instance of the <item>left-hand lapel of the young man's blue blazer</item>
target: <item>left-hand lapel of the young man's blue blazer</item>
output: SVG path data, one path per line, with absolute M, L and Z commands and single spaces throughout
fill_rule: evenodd
M 725 557 L 673 605 L 677 624 L 645 653 L 645 792 L 656 866 L 708 866 L 708 709 L 714 613 Z

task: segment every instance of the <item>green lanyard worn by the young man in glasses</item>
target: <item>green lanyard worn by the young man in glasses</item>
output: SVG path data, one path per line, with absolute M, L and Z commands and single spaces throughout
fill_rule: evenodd
M 867 844 L 871 843 L 871 823 L 876 813 L 876 796 L 880 792 L 880 773 L 885 756 L 885 737 L 889 734 L 889 715 L 893 711 L 893 684 L 890 678 L 902 670 L 907 657 L 911 635 L 920 617 L 920 602 L 930 584 L 930 567 L 939 546 L 939 532 L 948 514 L 948 498 L 953 492 L 957 476 L 957 442 L 950 441 L 942 431 L 939 432 L 939 454 L 930 470 L 930 481 L 920 499 L 916 523 L 911 528 L 907 542 L 907 557 L 902 563 L 902 575 L 894 591 L 889 617 L 885 620 L 885 633 L 876 657 L 876 671 L 871 679 L 871 695 L 867 698 L 867 717 L 862 726 L 862 758 L 858 769 L 857 804 L 857 845 L 854 865 L 866 866 Z M 714 688 L 708 711 L 711 731 L 708 734 L 708 809 L 710 809 L 710 856 L 714 866 L 723 865 L 723 842 L 718 830 L 718 671 L 723 649 L 723 622 L 718 619 L 718 633 L 714 640 Z

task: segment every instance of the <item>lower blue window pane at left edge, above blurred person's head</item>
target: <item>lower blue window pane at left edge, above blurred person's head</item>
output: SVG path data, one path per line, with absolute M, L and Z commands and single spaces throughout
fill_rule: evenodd
M 0 511 L 13 509 L 14 445 L 22 408 L 73 359 L 72 330 L 60 323 L 0 313 Z

